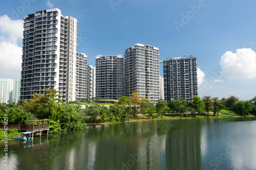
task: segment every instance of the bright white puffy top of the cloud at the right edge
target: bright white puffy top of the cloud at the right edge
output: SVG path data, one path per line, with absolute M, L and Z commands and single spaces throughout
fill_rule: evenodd
M 226 52 L 220 61 L 226 79 L 250 79 L 256 77 L 256 53 L 250 48 L 238 49 L 237 53 Z

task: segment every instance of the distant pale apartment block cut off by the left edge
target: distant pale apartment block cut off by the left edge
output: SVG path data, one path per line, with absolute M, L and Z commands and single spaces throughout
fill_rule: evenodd
M 12 101 L 13 80 L 0 79 L 0 103 L 8 103 Z

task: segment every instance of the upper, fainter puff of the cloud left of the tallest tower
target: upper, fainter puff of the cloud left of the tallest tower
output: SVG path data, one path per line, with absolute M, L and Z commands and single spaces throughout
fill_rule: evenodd
M 23 38 L 23 20 L 12 20 L 7 15 L 0 16 L 0 33 L 1 41 L 17 43 L 18 38 Z

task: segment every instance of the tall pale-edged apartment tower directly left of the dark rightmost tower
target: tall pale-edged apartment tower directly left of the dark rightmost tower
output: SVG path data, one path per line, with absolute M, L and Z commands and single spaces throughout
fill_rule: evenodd
M 124 95 L 138 92 L 140 98 L 159 100 L 159 49 L 136 44 L 124 54 Z

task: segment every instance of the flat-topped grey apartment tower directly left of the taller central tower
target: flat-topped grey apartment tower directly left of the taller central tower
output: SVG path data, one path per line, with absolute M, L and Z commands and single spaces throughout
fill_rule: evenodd
M 123 56 L 96 57 L 96 97 L 118 100 L 123 96 Z

